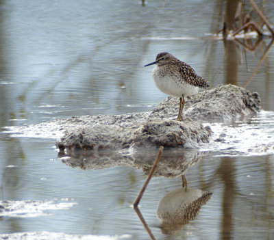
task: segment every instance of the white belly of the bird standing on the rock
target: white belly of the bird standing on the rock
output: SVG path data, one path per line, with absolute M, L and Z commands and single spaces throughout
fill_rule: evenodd
M 190 96 L 197 94 L 199 92 L 199 88 L 193 85 L 190 85 L 186 82 L 179 82 L 173 79 L 171 75 L 162 75 L 157 72 L 158 66 L 155 66 L 152 71 L 152 76 L 157 88 L 159 88 L 165 94 L 169 94 L 171 96 L 181 97 L 183 94 L 184 96 Z

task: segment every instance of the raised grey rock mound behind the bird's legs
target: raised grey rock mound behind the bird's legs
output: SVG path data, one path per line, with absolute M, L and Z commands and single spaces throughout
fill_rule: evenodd
M 179 99 L 169 96 L 156 106 L 149 117 L 175 118 L 179 108 Z M 199 122 L 232 122 L 249 118 L 260 111 L 260 96 L 251 94 L 245 88 L 236 85 L 219 85 L 216 88 L 189 96 L 183 114 Z

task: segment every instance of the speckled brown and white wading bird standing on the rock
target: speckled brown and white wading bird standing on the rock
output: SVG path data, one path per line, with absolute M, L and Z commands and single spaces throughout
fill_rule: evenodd
M 145 66 L 153 64 L 156 66 L 152 70 L 152 77 L 157 88 L 165 94 L 179 97 L 177 120 L 181 121 L 185 98 L 197 94 L 200 88 L 208 88 L 210 85 L 206 79 L 197 75 L 191 66 L 171 53 L 159 53 L 155 62 Z

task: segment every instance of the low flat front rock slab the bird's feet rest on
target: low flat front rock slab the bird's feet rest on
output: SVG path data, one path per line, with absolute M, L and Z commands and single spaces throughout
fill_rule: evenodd
M 134 124 L 97 124 L 91 119 L 89 126 L 68 131 L 56 142 L 60 150 L 77 148 L 93 149 L 123 149 L 131 144 L 136 147 L 151 148 L 151 146 L 197 148 L 199 143 L 209 142 L 211 130 L 199 122 L 184 119 L 162 120 L 147 118 Z

